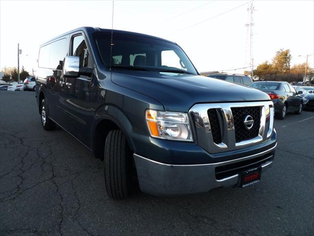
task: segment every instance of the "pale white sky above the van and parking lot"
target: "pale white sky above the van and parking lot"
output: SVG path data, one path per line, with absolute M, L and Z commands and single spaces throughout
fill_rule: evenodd
M 114 29 L 177 42 L 199 71 L 231 70 L 248 64 L 249 1 L 114 1 Z M 314 0 L 255 0 L 254 64 L 271 61 L 280 48 L 314 53 Z M 112 1 L 0 0 L 0 68 L 36 70 L 39 45 L 81 26 L 111 29 Z M 28 56 L 27 56 L 28 55 Z M 314 56 L 309 57 L 314 68 Z M 243 69 L 229 71 L 242 73 Z

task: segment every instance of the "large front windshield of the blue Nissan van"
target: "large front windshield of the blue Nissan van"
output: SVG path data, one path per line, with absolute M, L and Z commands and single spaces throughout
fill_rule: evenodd
M 103 63 L 112 69 L 197 75 L 197 71 L 183 50 L 173 43 L 113 32 L 111 49 L 111 32 L 95 32 L 94 38 Z

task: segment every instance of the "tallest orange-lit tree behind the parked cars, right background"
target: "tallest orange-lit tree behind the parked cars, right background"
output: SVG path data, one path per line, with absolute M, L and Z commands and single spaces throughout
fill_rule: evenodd
M 276 74 L 289 74 L 290 73 L 290 50 L 283 48 L 276 52 L 275 57 L 272 59 L 272 66 Z

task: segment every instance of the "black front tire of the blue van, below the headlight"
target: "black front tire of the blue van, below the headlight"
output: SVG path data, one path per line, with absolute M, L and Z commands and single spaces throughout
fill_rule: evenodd
M 105 188 L 109 198 L 125 199 L 131 191 L 131 151 L 121 130 L 108 132 L 105 141 Z

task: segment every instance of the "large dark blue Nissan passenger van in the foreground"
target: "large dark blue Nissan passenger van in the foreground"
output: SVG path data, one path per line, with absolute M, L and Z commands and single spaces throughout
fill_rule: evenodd
M 174 42 L 84 27 L 43 44 L 38 67 L 43 128 L 61 126 L 104 159 L 111 198 L 133 181 L 155 195 L 244 187 L 273 162 L 269 96 L 200 76 Z

